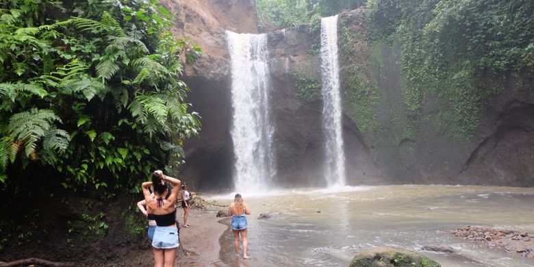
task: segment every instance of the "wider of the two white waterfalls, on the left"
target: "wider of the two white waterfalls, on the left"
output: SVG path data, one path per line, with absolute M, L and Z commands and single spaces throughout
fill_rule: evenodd
M 231 59 L 231 138 L 236 191 L 259 192 L 276 175 L 269 112 L 269 69 L 266 34 L 226 31 Z

